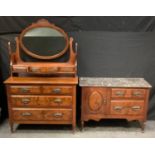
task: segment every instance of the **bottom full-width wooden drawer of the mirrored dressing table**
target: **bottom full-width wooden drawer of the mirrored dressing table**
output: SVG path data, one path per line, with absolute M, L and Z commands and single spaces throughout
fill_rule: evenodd
M 16 121 L 70 121 L 72 110 L 13 110 Z

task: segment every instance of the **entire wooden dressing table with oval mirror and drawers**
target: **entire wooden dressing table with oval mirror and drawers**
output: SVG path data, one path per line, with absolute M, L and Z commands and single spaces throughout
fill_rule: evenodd
M 71 124 L 76 128 L 77 63 L 73 38 L 41 19 L 16 38 L 7 89 L 11 131 L 16 124 Z

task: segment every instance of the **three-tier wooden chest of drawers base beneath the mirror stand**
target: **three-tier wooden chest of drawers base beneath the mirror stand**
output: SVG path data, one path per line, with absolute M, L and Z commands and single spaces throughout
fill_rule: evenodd
M 5 81 L 9 122 L 72 124 L 76 127 L 77 78 L 10 77 Z

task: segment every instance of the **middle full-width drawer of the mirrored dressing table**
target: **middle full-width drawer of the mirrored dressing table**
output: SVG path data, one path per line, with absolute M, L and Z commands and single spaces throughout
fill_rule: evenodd
M 11 103 L 14 107 L 72 107 L 71 96 L 32 96 L 12 95 Z

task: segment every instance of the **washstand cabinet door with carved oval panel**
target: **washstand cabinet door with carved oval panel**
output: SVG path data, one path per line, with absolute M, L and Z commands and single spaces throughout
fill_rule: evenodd
M 87 87 L 82 90 L 83 112 L 85 114 L 106 114 L 107 89 Z

